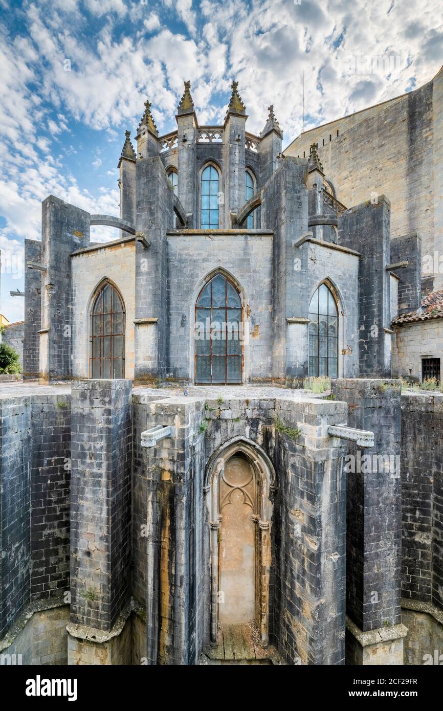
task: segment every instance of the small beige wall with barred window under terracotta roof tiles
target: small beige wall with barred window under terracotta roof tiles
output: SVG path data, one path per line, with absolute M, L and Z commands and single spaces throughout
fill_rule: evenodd
M 422 358 L 440 358 L 443 369 L 443 319 L 419 321 L 395 328 L 394 375 L 422 379 Z

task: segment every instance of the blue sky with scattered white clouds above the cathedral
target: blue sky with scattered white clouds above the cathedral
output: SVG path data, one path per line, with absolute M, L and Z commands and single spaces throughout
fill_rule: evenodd
M 23 290 L 43 198 L 118 215 L 124 130 L 134 136 L 146 97 L 166 133 L 190 79 L 199 122 L 217 124 L 235 78 L 248 129 L 273 103 L 286 146 L 302 128 L 303 73 L 311 128 L 442 63 L 441 0 L 0 0 L 0 311 L 23 318 L 9 291 Z

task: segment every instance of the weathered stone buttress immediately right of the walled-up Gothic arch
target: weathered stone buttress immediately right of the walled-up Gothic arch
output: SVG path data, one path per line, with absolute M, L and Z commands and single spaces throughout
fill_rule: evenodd
M 297 443 L 276 434 L 274 639 L 288 663 L 344 664 L 346 446 L 325 442 L 326 424 L 346 421 L 343 402 L 280 401 Z M 323 437 L 322 437 L 323 435 Z M 327 640 L 327 642 L 326 642 Z M 299 660 L 297 662 L 297 660 Z

